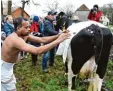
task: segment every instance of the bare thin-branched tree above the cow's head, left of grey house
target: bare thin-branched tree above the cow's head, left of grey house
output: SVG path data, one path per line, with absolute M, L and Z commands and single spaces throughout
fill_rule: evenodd
M 60 8 L 60 11 L 66 13 L 66 15 L 70 18 L 75 13 L 75 7 L 72 4 L 67 4 L 64 7 Z

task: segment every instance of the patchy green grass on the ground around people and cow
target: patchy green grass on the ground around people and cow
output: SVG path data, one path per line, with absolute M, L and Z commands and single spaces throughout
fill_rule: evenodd
M 67 91 L 64 85 L 67 77 L 64 77 L 64 64 L 61 57 L 55 58 L 55 65 L 48 67 L 49 73 L 43 73 L 41 68 L 41 56 L 38 65 L 31 65 L 31 57 L 24 59 L 15 65 L 14 73 L 17 78 L 17 91 Z M 104 77 L 106 87 L 113 91 L 113 62 L 109 61 L 108 69 Z M 76 80 L 75 91 L 87 91 L 88 85 L 80 84 Z

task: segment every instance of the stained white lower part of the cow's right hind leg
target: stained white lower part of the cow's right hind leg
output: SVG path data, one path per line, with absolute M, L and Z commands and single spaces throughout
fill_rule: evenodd
M 99 78 L 98 74 L 94 75 L 94 78 L 90 81 L 88 91 L 101 91 L 103 79 Z

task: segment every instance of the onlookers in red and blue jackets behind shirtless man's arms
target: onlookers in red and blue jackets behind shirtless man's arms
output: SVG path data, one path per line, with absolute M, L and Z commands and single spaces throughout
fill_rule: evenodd
M 57 35 L 59 32 L 54 28 L 54 21 L 55 21 L 56 12 L 50 11 L 48 15 L 45 17 L 43 21 L 39 21 L 38 16 L 33 17 L 33 22 L 30 26 L 30 32 L 34 36 L 43 37 L 43 36 L 53 36 Z M 34 46 L 41 46 L 40 43 L 31 42 Z M 46 45 L 48 43 L 44 43 Z M 42 57 L 42 70 L 43 72 L 48 72 L 47 69 L 47 61 L 49 59 L 49 65 L 53 66 L 54 64 L 54 55 L 55 55 L 55 47 L 52 48 L 50 51 L 44 52 Z M 38 55 L 32 54 L 32 64 L 36 65 L 38 61 Z

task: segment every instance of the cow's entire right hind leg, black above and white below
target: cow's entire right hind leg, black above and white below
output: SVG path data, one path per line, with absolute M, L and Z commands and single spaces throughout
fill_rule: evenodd
M 111 36 L 104 36 L 103 49 L 99 60 L 97 60 L 97 70 L 94 74 L 93 79 L 90 82 L 88 91 L 101 91 L 102 81 L 106 72 L 108 57 L 111 48 Z

